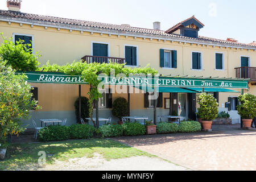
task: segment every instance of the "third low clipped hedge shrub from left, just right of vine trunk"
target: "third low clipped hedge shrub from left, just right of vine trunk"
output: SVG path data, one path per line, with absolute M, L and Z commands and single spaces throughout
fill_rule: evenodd
M 102 137 L 120 137 L 123 135 L 121 125 L 103 125 L 99 129 Z

